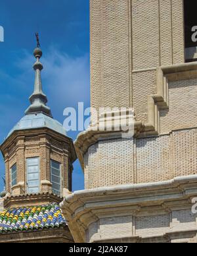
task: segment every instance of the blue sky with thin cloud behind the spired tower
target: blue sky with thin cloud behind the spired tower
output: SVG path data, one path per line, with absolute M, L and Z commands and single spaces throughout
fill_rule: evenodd
M 39 32 L 43 57 L 43 90 L 53 117 L 63 123 L 66 107 L 89 107 L 89 0 L 1 0 L 0 141 L 29 106 L 33 91 L 32 55 Z M 76 139 L 77 132 L 68 132 Z M 5 172 L 0 156 L 0 176 Z M 83 189 L 83 172 L 74 164 L 73 190 Z M 0 178 L 0 191 L 3 182 Z

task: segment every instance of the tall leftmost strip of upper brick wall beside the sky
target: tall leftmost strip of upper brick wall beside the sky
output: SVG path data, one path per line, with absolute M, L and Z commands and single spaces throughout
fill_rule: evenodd
M 91 106 L 129 107 L 129 1 L 91 3 Z

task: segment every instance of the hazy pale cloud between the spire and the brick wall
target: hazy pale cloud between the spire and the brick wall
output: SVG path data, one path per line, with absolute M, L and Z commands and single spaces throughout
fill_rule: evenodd
M 45 56 L 43 79 L 50 94 L 63 104 L 89 101 L 88 55 L 71 58 L 66 53 L 51 48 Z

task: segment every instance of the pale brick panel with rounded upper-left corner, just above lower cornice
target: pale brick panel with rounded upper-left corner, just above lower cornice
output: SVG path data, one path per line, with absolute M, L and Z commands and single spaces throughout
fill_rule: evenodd
M 86 188 L 133 183 L 133 140 L 100 141 L 89 148 L 85 166 Z

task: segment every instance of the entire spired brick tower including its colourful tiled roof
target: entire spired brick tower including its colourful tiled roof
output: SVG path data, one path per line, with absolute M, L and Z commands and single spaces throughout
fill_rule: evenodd
M 1 144 L 5 159 L 5 191 L 0 199 L 0 243 L 73 242 L 59 203 L 72 190 L 72 139 L 47 106 L 40 62 L 35 56 L 35 83 L 30 107 Z

